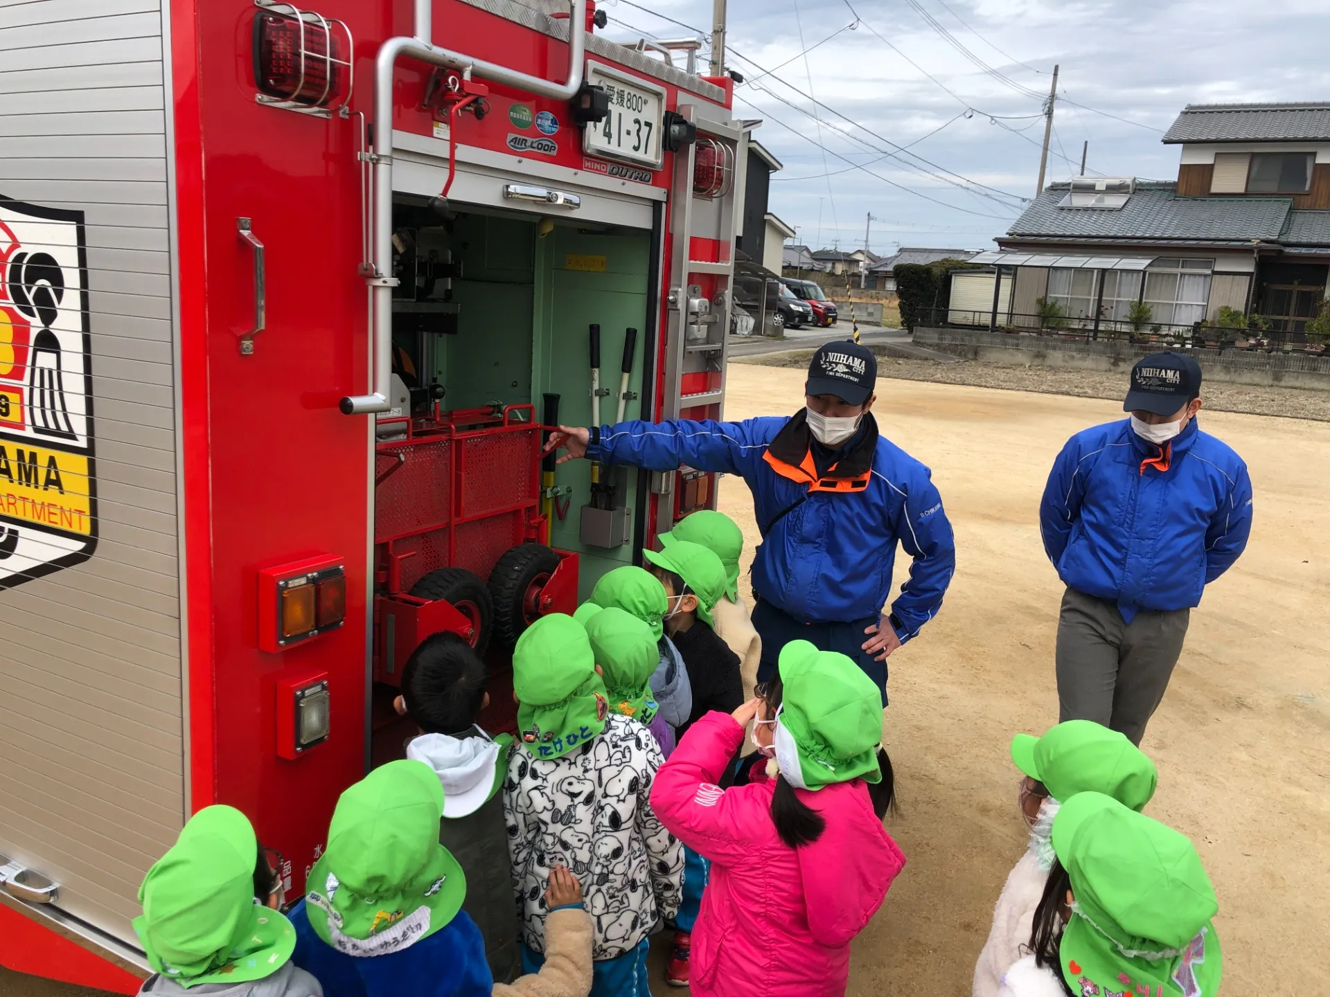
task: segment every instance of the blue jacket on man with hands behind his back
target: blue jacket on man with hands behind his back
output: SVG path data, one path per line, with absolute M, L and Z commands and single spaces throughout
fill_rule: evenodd
M 1168 453 L 1168 469 L 1158 461 Z M 1044 549 L 1077 592 L 1137 610 L 1197 606 L 1252 532 L 1252 480 L 1193 419 L 1161 451 L 1124 419 L 1076 433 L 1039 506 Z

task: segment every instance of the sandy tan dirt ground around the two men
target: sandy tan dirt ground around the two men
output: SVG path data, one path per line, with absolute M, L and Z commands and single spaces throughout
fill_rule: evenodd
M 735 364 L 726 415 L 793 412 L 802 383 L 798 370 Z M 1007 744 L 1012 732 L 1057 719 L 1061 589 L 1039 540 L 1039 496 L 1067 437 L 1120 409 L 879 380 L 882 431 L 932 468 L 956 530 L 958 570 L 939 617 L 890 662 L 888 747 L 902 810 L 888 830 L 908 865 L 854 942 L 851 997 L 970 993 L 992 903 L 1024 847 Z M 1214 881 L 1224 993 L 1293 997 L 1319 989 L 1330 937 L 1330 425 L 1232 413 L 1205 413 L 1202 425 L 1246 457 L 1256 526 L 1246 554 L 1193 613 L 1145 735 L 1160 767 L 1148 812 L 1196 841 Z M 725 479 L 720 501 L 743 526 L 750 557 L 747 489 Z M 907 564 L 898 562 L 898 581 Z M 754 912 L 763 889 L 782 888 L 755 884 Z M 653 990 L 680 993 L 658 973 Z M 88 992 L 0 972 L 0 994 L 74 993 Z

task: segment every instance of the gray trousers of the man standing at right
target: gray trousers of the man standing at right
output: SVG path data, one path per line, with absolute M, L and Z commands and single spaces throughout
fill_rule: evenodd
M 1076 589 L 1057 619 L 1059 720 L 1095 720 L 1140 744 L 1182 653 L 1192 610 L 1140 610 Z

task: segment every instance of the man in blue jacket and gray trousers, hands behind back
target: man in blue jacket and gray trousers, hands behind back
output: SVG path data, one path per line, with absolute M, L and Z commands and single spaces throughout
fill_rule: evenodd
M 1129 419 L 1084 429 L 1048 476 L 1039 520 L 1067 585 L 1057 623 L 1063 720 L 1138 744 L 1182 653 L 1192 606 L 1252 532 L 1252 480 L 1201 432 L 1201 367 L 1154 354 L 1132 368 Z

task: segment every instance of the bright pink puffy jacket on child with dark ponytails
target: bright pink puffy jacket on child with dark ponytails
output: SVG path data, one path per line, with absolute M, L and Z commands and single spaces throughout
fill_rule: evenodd
M 826 819 L 813 844 L 790 848 L 771 823 L 775 783 L 716 783 L 743 728 L 709 713 L 656 774 L 652 808 L 689 848 L 712 860 L 693 928 L 694 997 L 841 997 L 850 940 L 882 905 L 906 856 L 872 812 L 862 780 L 795 790 Z M 761 772 L 761 766 L 758 770 Z

